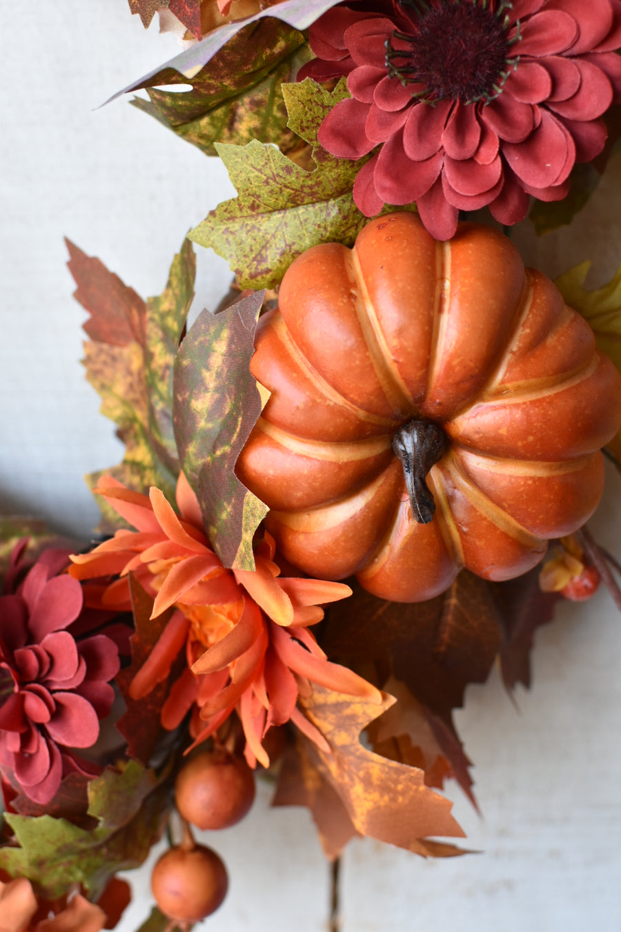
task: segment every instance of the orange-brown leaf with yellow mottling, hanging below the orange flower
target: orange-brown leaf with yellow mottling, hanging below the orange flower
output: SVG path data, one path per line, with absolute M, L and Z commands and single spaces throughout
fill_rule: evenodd
M 462 854 L 454 844 L 430 837 L 464 837 L 451 815 L 452 802 L 425 786 L 422 770 L 381 757 L 360 742 L 369 722 L 394 702 L 385 695 L 377 706 L 314 686 L 300 706 L 327 747 L 306 740 L 308 757 L 330 780 L 359 834 L 423 857 Z

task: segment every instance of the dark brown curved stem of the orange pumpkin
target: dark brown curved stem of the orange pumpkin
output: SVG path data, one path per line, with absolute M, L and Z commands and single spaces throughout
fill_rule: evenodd
M 442 458 L 446 446 L 446 433 L 431 420 L 411 420 L 393 437 L 393 450 L 403 466 L 412 517 L 419 524 L 429 524 L 436 511 L 436 502 L 425 478 Z

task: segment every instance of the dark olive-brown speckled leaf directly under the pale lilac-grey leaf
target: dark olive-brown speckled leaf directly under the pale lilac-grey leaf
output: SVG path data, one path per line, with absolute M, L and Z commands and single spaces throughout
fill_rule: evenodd
M 261 20 L 237 33 L 189 79 L 192 90 L 152 89 L 188 83 L 168 68 L 148 82 L 149 101 L 136 98 L 131 103 L 209 156 L 216 155 L 216 141 L 243 145 L 260 139 L 289 151 L 296 137 L 287 129 L 281 85 L 310 58 L 302 33 L 278 20 Z

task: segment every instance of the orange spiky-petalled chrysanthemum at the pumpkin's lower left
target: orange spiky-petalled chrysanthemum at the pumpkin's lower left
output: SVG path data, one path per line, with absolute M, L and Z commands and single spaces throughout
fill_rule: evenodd
M 162 636 L 133 679 L 140 699 L 169 676 L 185 648 L 187 668 L 173 684 L 162 722 L 175 728 L 193 709 L 195 744 L 214 733 L 236 709 L 251 765 L 269 759 L 262 745 L 272 725 L 293 721 L 317 744 L 317 729 L 297 708 L 311 683 L 381 702 L 381 693 L 346 667 L 331 664 L 308 625 L 319 607 L 349 596 L 343 583 L 283 577 L 275 544 L 265 534 L 254 548 L 255 569 L 225 569 L 209 546 L 196 496 L 180 475 L 176 514 L 163 493 L 132 492 L 109 476 L 96 491 L 136 530 L 118 530 L 88 554 L 72 556 L 81 580 L 118 576 L 101 596 L 104 605 L 128 607 L 128 573 L 155 595 L 152 617 L 176 607 Z

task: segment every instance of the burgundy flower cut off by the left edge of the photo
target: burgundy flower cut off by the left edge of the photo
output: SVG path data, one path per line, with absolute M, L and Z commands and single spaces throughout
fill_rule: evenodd
M 53 572 L 39 560 L 16 591 L 0 596 L 0 770 L 40 803 L 65 772 L 81 769 L 69 748 L 97 740 L 119 668 L 110 637 L 82 636 L 80 583 Z

